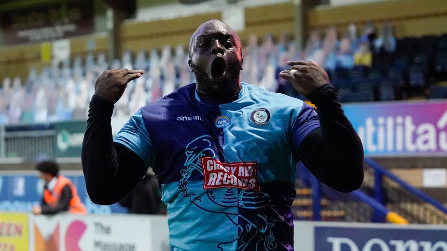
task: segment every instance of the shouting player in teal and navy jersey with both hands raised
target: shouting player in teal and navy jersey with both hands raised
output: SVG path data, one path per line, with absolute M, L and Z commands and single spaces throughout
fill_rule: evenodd
M 242 51 L 227 24 L 200 25 L 188 50 L 196 82 L 142 107 L 115 138 L 114 103 L 144 72 L 98 77 L 82 144 L 93 202 L 115 203 L 152 166 L 172 250 L 293 250 L 297 162 L 332 189 L 358 189 L 363 146 L 327 73 L 313 61 L 288 61 L 280 73 L 315 110 L 241 82 Z

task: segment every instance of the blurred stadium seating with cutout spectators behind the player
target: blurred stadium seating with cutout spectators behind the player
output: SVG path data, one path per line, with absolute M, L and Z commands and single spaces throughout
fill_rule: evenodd
M 437 44 L 436 38 L 440 39 L 439 36 L 430 37 L 433 40 L 432 45 Z M 396 54 L 389 68 L 386 68 L 387 62 L 382 64 L 377 60 L 375 60 L 376 66 L 372 68 L 357 66 L 330 69 L 332 65 L 326 68 L 342 101 L 444 97 L 443 92 L 439 92 L 442 87 L 438 86 L 434 79 L 439 81 L 445 79 L 447 65 L 444 61 L 447 57 L 444 52 L 438 52 L 431 47 L 424 50 L 435 51 L 434 57 L 427 53 L 415 53 L 416 49 L 413 46 L 421 43 L 420 40 L 423 39 L 428 38 L 412 37 L 398 40 L 400 43 L 397 43 Z M 278 72 L 285 66 L 280 61 L 284 62 L 293 58 L 296 41 L 291 40 L 284 46 L 284 44 L 274 44 L 271 36 L 265 36 L 265 40 L 261 40 L 260 43 L 260 46 L 257 44 L 247 46 L 249 48 L 247 51 L 250 52 L 245 56 L 244 68 L 247 71 L 244 71 L 242 81 L 251 82 L 272 91 L 281 91 Z M 405 49 L 401 49 L 401 46 Z M 412 51 L 407 51 L 409 48 L 413 48 Z M 259 51 L 264 51 L 264 53 L 260 54 Z M 323 59 L 325 67 L 329 57 Z M 307 58 L 318 60 L 312 55 Z M 144 69 L 149 73 L 132 82 L 122 101 L 120 100 L 117 104 L 116 114 L 130 115 L 142 104 L 152 102 L 186 83 L 194 82 L 194 75 L 188 71 L 186 62 L 183 46 L 177 46 L 177 48 L 165 46 L 161 51 L 139 50 L 135 55 L 131 51 L 125 51 L 121 59 L 114 59 L 110 65 L 104 53 L 98 55 L 90 53 L 84 59 L 77 56 L 66 64 L 43 68 L 40 73 L 32 69 L 25 80 L 19 77 L 11 80 L 6 77 L 3 79 L 1 92 L 3 104 L 0 121 L 2 124 L 16 124 L 86 119 L 85 104 L 93 94 L 94 80 L 103 70 L 110 67 Z M 284 86 L 287 83 L 281 85 Z M 431 88 L 435 90 L 431 91 Z M 141 92 L 142 89 L 144 92 Z M 138 100 L 132 98 L 133 96 Z M 27 102 L 20 103 L 19 100 L 27 100 Z

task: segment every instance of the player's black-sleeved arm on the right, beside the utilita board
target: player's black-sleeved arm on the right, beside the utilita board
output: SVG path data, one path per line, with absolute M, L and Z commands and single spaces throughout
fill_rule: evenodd
M 315 138 L 307 140 L 312 141 L 318 150 L 303 148 L 306 155 L 303 156 L 303 163 L 309 165 L 309 170 L 318 179 L 337 191 L 357 189 L 364 177 L 363 145 L 345 116 L 335 90 L 328 84 L 312 92 L 308 98 L 317 107 L 321 133 L 315 131 Z M 306 144 L 305 141 L 303 143 Z M 308 160 L 318 163 L 306 163 Z

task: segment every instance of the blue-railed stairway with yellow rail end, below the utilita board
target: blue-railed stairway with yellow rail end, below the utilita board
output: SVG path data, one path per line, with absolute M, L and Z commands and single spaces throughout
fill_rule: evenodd
M 391 223 L 447 223 L 447 208 L 406 183 L 370 158 L 365 158 L 365 180 L 359 190 L 339 193 L 322 184 L 303 165 L 299 177 L 312 187 L 312 198 L 325 197 L 332 207 L 345 212 L 346 221 Z M 320 220 L 320 203 L 313 203 L 312 220 Z

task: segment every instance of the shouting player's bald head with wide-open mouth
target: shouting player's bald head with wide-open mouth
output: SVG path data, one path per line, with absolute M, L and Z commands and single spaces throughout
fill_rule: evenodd
M 199 93 L 225 97 L 239 91 L 242 61 L 238 35 L 219 20 L 204 23 L 191 37 L 189 66 Z

